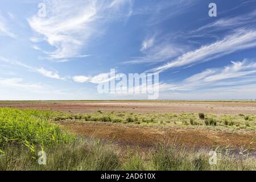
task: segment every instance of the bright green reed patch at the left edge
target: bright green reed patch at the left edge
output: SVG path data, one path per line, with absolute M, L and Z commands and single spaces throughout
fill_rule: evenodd
M 74 139 L 50 122 L 51 115 L 51 111 L 0 109 L 0 148 L 16 143 L 34 151 L 36 145 L 49 147 Z

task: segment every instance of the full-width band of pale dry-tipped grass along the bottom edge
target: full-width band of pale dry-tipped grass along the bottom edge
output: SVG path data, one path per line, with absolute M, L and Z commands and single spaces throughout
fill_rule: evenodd
M 171 144 L 159 144 L 147 153 L 127 151 L 121 156 L 113 144 L 80 140 L 49 148 L 45 151 L 46 165 L 39 165 L 27 148 L 8 146 L 0 155 L 0 170 L 256 170 L 255 158 L 224 151 L 218 151 L 217 165 L 209 164 L 208 150 Z

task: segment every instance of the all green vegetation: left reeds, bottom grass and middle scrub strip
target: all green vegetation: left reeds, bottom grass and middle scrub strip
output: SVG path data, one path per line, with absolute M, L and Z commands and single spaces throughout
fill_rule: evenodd
M 248 118 L 245 118 L 248 117 Z M 209 120 L 207 120 L 209 118 Z M 127 148 L 120 152 L 112 142 L 81 139 L 63 130 L 56 122 L 122 122 L 137 125 L 198 125 L 253 130 L 254 115 L 199 114 L 72 114 L 52 111 L 0 109 L 0 170 L 255 170 L 253 148 L 233 154 L 228 148 L 213 147 L 217 165 L 209 164 L 208 150 L 188 148 L 168 141 L 146 152 Z M 160 119 L 160 120 L 159 120 Z M 186 121 L 186 122 L 184 122 Z M 205 122 L 208 122 L 205 123 Z M 234 122 L 233 125 L 225 123 Z M 246 126 L 250 122 L 250 126 Z M 216 123 L 216 124 L 215 124 Z M 45 151 L 46 165 L 38 164 L 38 151 Z

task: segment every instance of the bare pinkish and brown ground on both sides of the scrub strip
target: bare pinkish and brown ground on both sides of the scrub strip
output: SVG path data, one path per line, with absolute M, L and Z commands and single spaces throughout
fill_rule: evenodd
M 71 116 L 100 112 L 101 115 L 109 115 L 109 113 L 135 114 L 136 118 L 137 114 L 160 114 L 153 123 L 149 124 L 138 121 L 130 123 L 98 122 L 97 120 L 100 119 L 97 118 L 85 122 L 76 117 L 71 117 L 71 119 L 67 117 L 58 122 L 76 135 L 114 140 L 121 147 L 128 145 L 147 148 L 164 140 L 196 147 L 232 146 L 239 148 L 249 144 L 256 147 L 256 142 L 254 142 L 256 130 L 252 127 L 255 121 L 251 121 L 250 127 L 246 127 L 247 124 L 245 124 L 246 128 L 234 125 L 204 126 L 203 122 L 201 126 L 194 126 L 187 124 L 189 117 L 185 118 L 187 121 L 183 119 L 180 124 L 175 121 L 174 125 L 168 121 L 166 123 L 159 122 L 159 118 L 163 118 L 161 114 L 164 113 L 180 114 L 181 116 L 194 113 L 193 117 L 195 118 L 198 113 L 209 114 L 210 117 L 212 115 L 214 117 L 227 115 L 233 117 L 233 120 L 236 120 L 236 116 L 240 114 L 242 115 L 240 119 L 243 120 L 246 115 L 253 116 L 256 113 L 256 102 L 253 101 L 1 101 L 0 107 L 53 110 L 60 111 L 60 115 L 69 114 Z M 223 126 L 225 125 L 223 124 Z

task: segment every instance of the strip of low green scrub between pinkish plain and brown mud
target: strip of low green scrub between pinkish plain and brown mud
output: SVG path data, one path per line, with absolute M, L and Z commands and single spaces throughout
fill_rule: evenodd
M 56 122 L 63 121 L 98 121 L 112 123 L 133 123 L 137 125 L 160 125 L 160 126 L 210 126 L 226 127 L 230 129 L 256 130 L 256 115 L 214 115 L 204 113 L 182 114 L 138 114 L 125 112 L 102 113 L 98 110 L 92 114 L 55 113 L 53 119 Z

